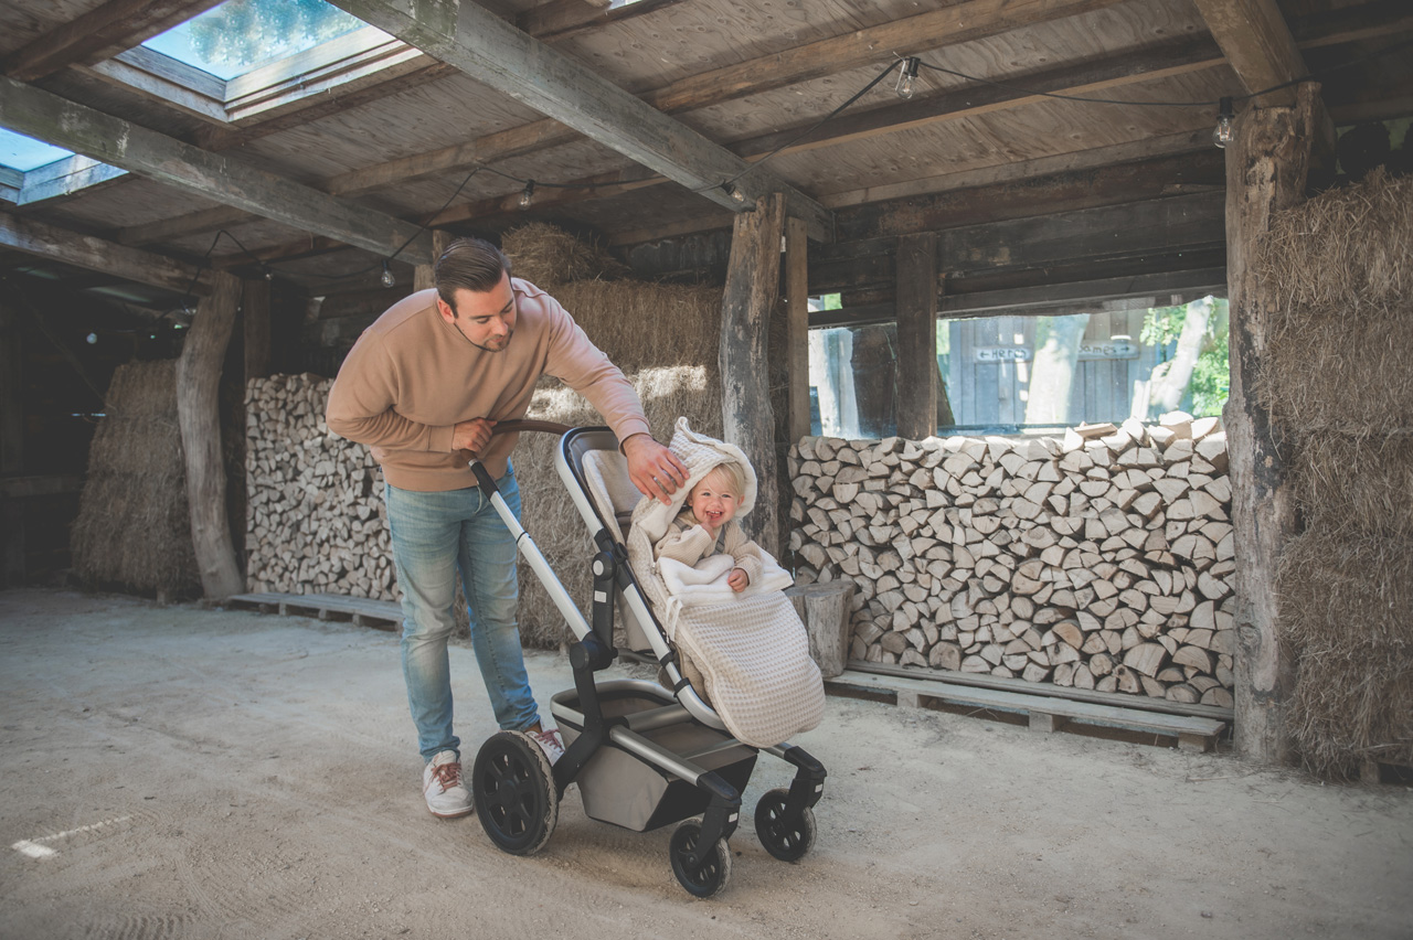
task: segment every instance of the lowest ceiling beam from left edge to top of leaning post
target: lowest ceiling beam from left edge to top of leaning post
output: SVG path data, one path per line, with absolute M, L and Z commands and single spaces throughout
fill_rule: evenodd
M 179 294 L 188 291 L 206 294 L 211 289 L 211 272 L 201 272 L 185 261 L 113 244 L 32 219 L 21 219 L 7 212 L 0 212 L 0 246 Z

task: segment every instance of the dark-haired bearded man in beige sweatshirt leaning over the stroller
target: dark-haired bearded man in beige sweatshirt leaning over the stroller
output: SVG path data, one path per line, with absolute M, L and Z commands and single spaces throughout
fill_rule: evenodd
M 329 430 L 369 445 L 383 466 L 403 591 L 403 676 L 425 762 L 422 793 L 435 816 L 455 817 L 472 809 L 452 733 L 447 655 L 458 572 L 496 721 L 528 733 L 551 761 L 562 754 L 558 731 L 540 723 L 526 676 L 516 545 L 476 487 L 468 459 L 480 459 L 519 517 L 510 463 L 516 435 L 492 438 L 492 430 L 523 418 L 536 380 L 548 374 L 603 415 L 644 495 L 667 502 L 687 469 L 653 439 L 623 374 L 554 298 L 510 277 L 499 248 L 459 240 L 437 260 L 434 277 L 435 289 L 394 303 L 363 332 L 329 391 L 326 418 Z

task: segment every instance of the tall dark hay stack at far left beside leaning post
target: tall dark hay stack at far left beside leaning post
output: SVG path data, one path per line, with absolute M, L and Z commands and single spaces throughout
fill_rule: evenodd
M 71 534 L 75 574 L 90 587 L 199 597 L 177 361 L 120 366 L 103 411 Z

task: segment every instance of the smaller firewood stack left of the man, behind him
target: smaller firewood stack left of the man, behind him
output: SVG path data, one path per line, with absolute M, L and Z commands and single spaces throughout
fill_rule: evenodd
M 324 423 L 329 380 L 246 387 L 246 582 L 252 591 L 396 600 L 383 474 Z

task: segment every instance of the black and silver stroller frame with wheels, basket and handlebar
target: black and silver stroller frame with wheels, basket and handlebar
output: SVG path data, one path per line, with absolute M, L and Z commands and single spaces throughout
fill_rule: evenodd
M 482 491 L 577 638 L 569 646 L 574 689 L 550 700 L 564 735 L 564 757 L 551 766 L 540 747 L 519 731 L 487 738 L 469 781 L 476 816 L 500 850 L 531 855 L 554 834 L 565 788 L 578 783 L 591 819 L 640 833 L 677 823 L 668 844 L 673 874 L 690 893 L 709 898 L 731 878 L 726 840 L 736 831 L 740 795 L 762 748 L 733 738 L 682 679 L 677 653 L 639 590 L 627 563 L 625 528 L 643 497 L 629 481 L 613 433 L 536 421 L 507 421 L 496 430 L 562 435 L 555 469 L 599 550 L 592 559 L 591 622 L 510 512 L 490 474 L 472 462 Z M 593 673 L 619 655 L 615 613 L 622 617 L 626 646 L 650 655 L 675 692 L 639 679 L 595 682 Z M 771 789 L 757 802 L 756 836 L 773 857 L 797 861 L 814 844 L 811 807 L 822 795 L 825 769 L 788 742 L 763 749 L 793 765 L 796 773 L 788 788 Z

